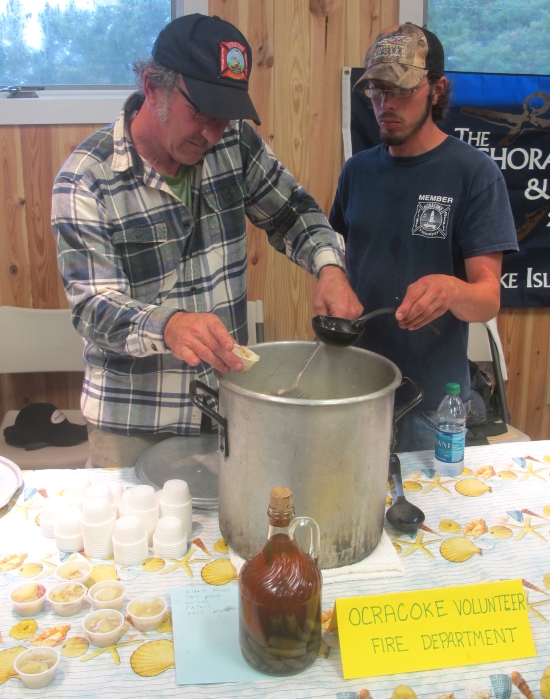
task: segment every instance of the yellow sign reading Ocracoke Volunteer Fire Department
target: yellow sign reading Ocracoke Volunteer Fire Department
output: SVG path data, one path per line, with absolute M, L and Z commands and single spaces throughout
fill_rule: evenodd
M 336 600 L 344 679 L 536 655 L 521 580 Z

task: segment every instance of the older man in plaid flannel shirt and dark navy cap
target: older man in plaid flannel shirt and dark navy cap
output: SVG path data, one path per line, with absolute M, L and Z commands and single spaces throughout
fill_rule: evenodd
M 197 434 L 189 398 L 212 367 L 240 371 L 246 343 L 246 222 L 318 277 L 318 313 L 361 304 L 343 244 L 315 201 L 244 119 L 252 54 L 219 17 L 189 15 L 135 66 L 140 90 L 82 143 L 53 192 L 59 267 L 85 338 L 82 411 L 96 466 L 135 463 Z

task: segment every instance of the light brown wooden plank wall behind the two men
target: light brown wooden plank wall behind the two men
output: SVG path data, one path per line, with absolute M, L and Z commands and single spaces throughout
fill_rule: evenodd
M 252 46 L 260 134 L 328 213 L 343 161 L 341 68 L 362 65 L 379 30 L 397 20 L 397 0 L 210 0 L 209 8 Z M 49 224 L 51 188 L 64 159 L 99 126 L 0 127 L 0 304 L 66 306 Z M 266 340 L 311 338 L 313 288 L 249 226 L 249 297 L 264 301 Z M 550 437 L 550 309 L 503 309 L 499 328 L 512 422 L 533 439 Z M 81 378 L 0 376 L 0 416 L 30 401 L 78 407 Z

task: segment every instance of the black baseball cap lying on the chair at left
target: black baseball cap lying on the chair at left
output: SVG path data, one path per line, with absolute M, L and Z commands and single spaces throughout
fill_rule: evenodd
M 86 425 L 75 425 L 53 403 L 30 403 L 19 411 L 4 439 L 27 451 L 42 447 L 74 447 L 88 439 Z

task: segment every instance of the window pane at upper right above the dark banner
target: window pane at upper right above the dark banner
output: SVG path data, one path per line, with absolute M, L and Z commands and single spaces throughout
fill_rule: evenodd
M 427 28 L 460 72 L 547 75 L 548 0 L 428 0 Z

